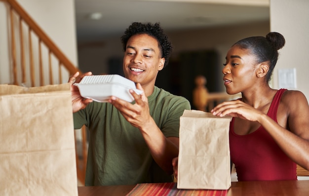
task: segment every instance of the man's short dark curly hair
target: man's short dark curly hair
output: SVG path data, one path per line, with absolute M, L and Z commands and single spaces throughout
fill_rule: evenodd
M 168 59 L 173 51 L 173 46 L 167 35 L 163 33 L 163 29 L 160 27 L 160 24 L 133 22 L 120 38 L 123 45 L 123 51 L 126 50 L 126 44 L 129 38 L 136 34 L 148 34 L 153 36 L 159 43 L 161 58 L 165 58 L 165 65 L 167 65 Z

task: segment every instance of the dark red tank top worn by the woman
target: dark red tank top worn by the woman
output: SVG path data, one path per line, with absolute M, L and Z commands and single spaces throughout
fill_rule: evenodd
M 285 90 L 277 91 L 267 113 L 275 122 Z M 262 126 L 250 134 L 237 135 L 234 132 L 234 120 L 232 118 L 229 135 L 231 159 L 238 181 L 297 180 L 296 163 L 285 155 Z

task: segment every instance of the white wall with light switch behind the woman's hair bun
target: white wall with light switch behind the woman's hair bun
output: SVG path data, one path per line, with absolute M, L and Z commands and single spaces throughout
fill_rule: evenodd
M 296 68 L 297 90 L 309 99 L 309 0 L 270 0 L 270 30 L 281 33 L 286 44 L 273 71 L 278 88 L 278 69 Z

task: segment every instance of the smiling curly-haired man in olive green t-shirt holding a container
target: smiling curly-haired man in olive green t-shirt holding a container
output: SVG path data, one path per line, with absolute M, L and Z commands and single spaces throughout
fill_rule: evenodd
M 178 156 L 179 118 L 190 103 L 154 86 L 172 51 L 158 23 L 132 23 L 121 37 L 123 72 L 143 91 L 129 103 L 111 97 L 99 103 L 71 85 L 74 126 L 90 131 L 86 186 L 171 182 Z M 85 73 L 70 78 L 79 82 Z

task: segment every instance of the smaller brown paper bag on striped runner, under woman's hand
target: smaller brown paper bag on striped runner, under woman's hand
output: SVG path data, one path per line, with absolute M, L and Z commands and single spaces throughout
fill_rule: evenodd
M 230 117 L 185 110 L 180 117 L 178 189 L 231 187 Z

